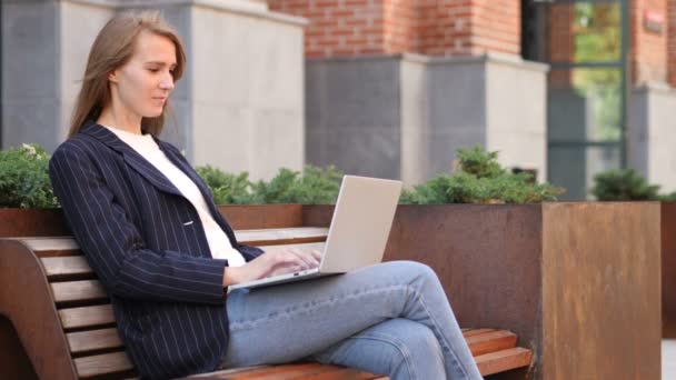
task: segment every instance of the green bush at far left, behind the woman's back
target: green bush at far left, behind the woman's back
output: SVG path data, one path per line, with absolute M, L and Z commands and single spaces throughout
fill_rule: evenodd
M 0 208 L 59 207 L 48 164 L 49 154 L 39 144 L 0 151 Z

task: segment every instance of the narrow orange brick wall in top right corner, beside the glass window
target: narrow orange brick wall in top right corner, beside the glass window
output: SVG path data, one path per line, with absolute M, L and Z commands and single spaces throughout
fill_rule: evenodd
M 665 17 L 662 33 L 644 28 L 646 10 Z M 667 0 L 633 0 L 629 24 L 632 30 L 629 60 L 635 84 L 667 80 Z

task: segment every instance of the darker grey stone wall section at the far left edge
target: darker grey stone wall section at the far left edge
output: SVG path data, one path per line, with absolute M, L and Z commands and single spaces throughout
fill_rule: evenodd
M 2 144 L 60 139 L 60 4 L 2 1 Z

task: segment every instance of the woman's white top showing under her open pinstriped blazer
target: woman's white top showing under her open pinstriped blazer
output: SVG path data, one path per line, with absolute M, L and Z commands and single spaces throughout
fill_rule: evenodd
M 106 126 L 103 126 L 106 127 Z M 195 206 L 199 219 L 207 234 L 207 241 L 209 242 L 209 249 L 211 249 L 211 256 L 215 259 L 228 260 L 229 267 L 241 267 L 246 263 L 245 258 L 239 253 L 238 250 L 232 248 L 230 240 L 223 230 L 218 226 L 209 208 L 205 197 L 199 191 L 199 188 L 190 177 L 186 176 L 179 168 L 177 168 L 165 152 L 160 150 L 160 147 L 155 142 L 150 134 L 136 134 L 123 131 L 121 129 L 106 127 L 108 130 L 113 132 L 120 140 L 125 141 L 128 146 L 133 148 L 139 154 L 146 160 L 152 163 L 165 177 L 167 177 L 173 186 Z

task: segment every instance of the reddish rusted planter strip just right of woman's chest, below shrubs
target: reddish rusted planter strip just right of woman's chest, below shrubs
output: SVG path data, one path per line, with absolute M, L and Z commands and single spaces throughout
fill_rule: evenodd
M 302 227 L 301 204 L 219 206 L 236 230 Z

